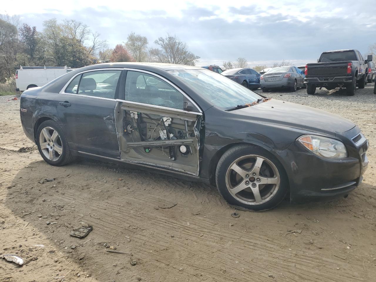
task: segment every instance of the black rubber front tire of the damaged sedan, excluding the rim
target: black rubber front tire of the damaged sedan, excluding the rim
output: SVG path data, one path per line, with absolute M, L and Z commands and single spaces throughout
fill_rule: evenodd
M 267 158 L 274 164 L 279 173 L 279 187 L 276 193 L 270 199 L 268 199 L 267 202 L 253 205 L 246 204 L 237 200 L 227 189 L 226 177 L 230 165 L 238 158 L 247 155 L 258 155 L 262 156 L 263 158 Z M 218 161 L 217 170 L 215 171 L 215 181 L 219 193 L 230 205 L 253 211 L 264 211 L 274 208 L 285 198 L 288 192 L 287 174 L 277 158 L 264 149 L 247 144 L 232 147 L 223 154 L 223 156 Z

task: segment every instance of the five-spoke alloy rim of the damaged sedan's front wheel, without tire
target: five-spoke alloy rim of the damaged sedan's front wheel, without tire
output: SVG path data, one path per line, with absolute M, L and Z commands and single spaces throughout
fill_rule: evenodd
M 233 161 L 227 169 L 226 186 L 236 200 L 246 205 L 260 205 L 277 193 L 280 176 L 269 159 L 246 155 Z

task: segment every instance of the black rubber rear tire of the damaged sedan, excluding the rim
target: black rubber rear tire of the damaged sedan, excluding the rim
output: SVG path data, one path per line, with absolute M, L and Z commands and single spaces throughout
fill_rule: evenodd
M 56 130 L 58 132 L 58 138 L 60 139 L 60 144 L 62 147 L 62 153 L 59 155 L 58 159 L 56 161 L 51 160 L 47 158 L 44 153 L 42 152 L 41 149 L 41 144 L 40 144 L 40 137 L 41 136 L 41 131 L 45 127 L 51 127 L 53 130 Z M 43 121 L 39 127 L 38 130 L 36 130 L 36 145 L 38 146 L 39 154 L 41 154 L 42 158 L 44 159 L 45 162 L 47 162 L 50 165 L 56 165 L 56 166 L 61 166 L 61 165 L 66 165 L 73 161 L 74 156 L 71 154 L 68 143 L 67 143 L 67 138 L 65 137 L 65 134 L 62 130 L 62 128 L 53 120 L 46 120 Z M 47 140 L 46 140 L 47 142 Z

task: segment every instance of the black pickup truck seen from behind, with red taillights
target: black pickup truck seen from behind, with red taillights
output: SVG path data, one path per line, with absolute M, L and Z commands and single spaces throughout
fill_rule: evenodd
M 328 90 L 344 87 L 347 95 L 355 94 L 356 84 L 364 88 L 367 83 L 367 62 L 372 61 L 372 55 L 364 60 L 358 50 L 335 50 L 321 54 L 317 63 L 306 64 L 304 83 L 307 93 L 315 94 L 317 87 Z

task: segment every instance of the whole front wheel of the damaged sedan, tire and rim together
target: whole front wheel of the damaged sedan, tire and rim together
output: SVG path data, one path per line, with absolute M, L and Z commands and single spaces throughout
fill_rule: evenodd
M 280 162 L 270 152 L 247 144 L 223 154 L 215 180 L 218 191 L 230 205 L 253 211 L 274 208 L 288 191 Z

